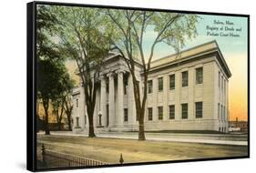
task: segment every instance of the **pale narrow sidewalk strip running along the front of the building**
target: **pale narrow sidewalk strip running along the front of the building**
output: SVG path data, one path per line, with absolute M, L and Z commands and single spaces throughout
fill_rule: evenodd
M 37 133 L 43 135 L 44 132 Z M 73 137 L 87 137 L 87 134 L 74 134 L 70 131 L 54 131 L 51 135 L 58 136 L 73 136 Z M 138 132 L 109 132 L 97 134 L 97 137 L 107 138 L 124 138 L 124 139 L 138 139 Z M 229 139 L 225 139 L 225 138 Z M 247 140 L 238 140 L 237 137 L 230 137 L 229 135 L 208 135 L 208 134 L 163 134 L 163 133 L 146 133 L 147 140 L 153 141 L 168 141 L 168 142 L 187 142 L 187 143 L 203 143 L 216 145 L 234 145 L 247 146 Z

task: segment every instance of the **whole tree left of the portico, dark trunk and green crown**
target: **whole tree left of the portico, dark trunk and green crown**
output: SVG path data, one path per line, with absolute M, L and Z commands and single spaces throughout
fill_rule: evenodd
M 95 137 L 93 115 L 98 77 L 104 58 L 108 56 L 112 36 L 111 27 L 107 25 L 108 17 L 97 8 L 55 5 L 50 10 L 58 21 L 56 36 L 62 56 L 77 62 L 86 97 L 89 137 Z

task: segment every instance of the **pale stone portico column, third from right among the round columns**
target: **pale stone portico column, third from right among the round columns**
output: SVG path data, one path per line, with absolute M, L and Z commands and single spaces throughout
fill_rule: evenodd
M 106 79 L 104 76 L 100 80 L 100 112 L 102 119 L 102 126 L 107 127 L 107 98 L 106 98 Z

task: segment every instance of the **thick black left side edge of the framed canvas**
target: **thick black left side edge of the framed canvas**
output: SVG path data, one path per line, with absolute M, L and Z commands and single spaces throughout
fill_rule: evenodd
M 35 2 L 26 4 L 26 169 L 36 171 Z

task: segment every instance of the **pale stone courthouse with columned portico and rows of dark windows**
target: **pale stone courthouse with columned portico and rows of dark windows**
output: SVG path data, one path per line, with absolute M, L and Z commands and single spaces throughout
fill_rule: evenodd
M 141 73 L 141 64 L 137 62 L 136 75 L 142 92 Z M 145 130 L 228 132 L 230 76 L 216 41 L 152 61 Z M 94 116 L 96 133 L 137 131 L 133 84 L 124 59 L 109 55 L 100 79 Z M 74 88 L 73 101 L 74 131 L 87 133 L 87 107 L 81 86 Z

